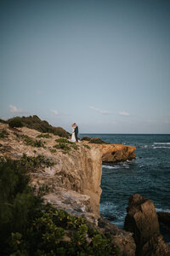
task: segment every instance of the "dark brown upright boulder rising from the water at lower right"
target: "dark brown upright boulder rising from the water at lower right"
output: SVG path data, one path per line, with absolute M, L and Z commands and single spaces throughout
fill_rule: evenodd
M 156 208 L 149 199 L 143 198 L 139 194 L 129 197 L 124 228 L 133 232 L 136 255 L 170 255 L 170 248 L 160 235 Z

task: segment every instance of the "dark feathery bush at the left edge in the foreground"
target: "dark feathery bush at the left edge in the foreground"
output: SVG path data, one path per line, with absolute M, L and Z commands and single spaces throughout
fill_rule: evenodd
M 20 161 L 0 160 L 0 254 L 5 255 L 12 232 L 26 232 L 29 218 L 35 216 L 41 200 L 29 187 L 26 167 Z

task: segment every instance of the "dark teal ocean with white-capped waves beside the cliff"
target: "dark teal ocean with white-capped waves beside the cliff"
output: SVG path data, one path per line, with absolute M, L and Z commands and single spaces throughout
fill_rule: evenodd
M 136 147 L 136 159 L 103 166 L 100 214 L 123 228 L 129 195 L 138 193 L 154 202 L 156 212 L 170 212 L 170 135 L 81 134 L 108 143 Z M 170 232 L 161 226 L 170 242 Z

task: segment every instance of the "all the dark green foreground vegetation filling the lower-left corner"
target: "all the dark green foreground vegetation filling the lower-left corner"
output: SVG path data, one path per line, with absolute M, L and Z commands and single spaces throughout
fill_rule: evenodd
M 51 205 L 29 186 L 29 171 L 44 159 L 0 160 L 1 255 L 118 255 L 110 235 L 104 236 L 84 218 Z

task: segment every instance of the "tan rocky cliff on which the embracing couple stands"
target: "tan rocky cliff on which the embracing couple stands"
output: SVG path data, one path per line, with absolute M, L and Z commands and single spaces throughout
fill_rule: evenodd
M 110 232 L 121 254 L 133 256 L 132 234 L 99 216 L 102 151 L 94 144 L 71 143 L 53 134 L 0 123 L 0 156 L 35 165 L 31 186 L 48 188 L 44 199 L 55 207 L 88 219 L 104 233 Z M 37 166 L 37 160 L 42 163 Z

